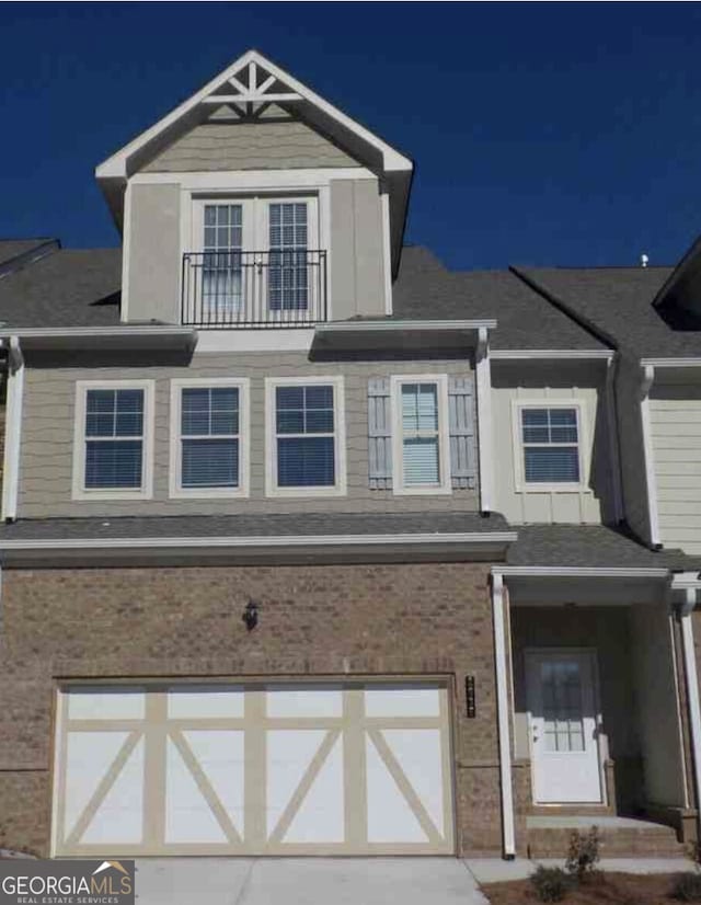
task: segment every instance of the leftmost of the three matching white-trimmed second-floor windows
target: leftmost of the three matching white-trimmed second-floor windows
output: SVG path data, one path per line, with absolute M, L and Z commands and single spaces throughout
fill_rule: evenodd
M 152 381 L 76 385 L 74 499 L 152 493 Z

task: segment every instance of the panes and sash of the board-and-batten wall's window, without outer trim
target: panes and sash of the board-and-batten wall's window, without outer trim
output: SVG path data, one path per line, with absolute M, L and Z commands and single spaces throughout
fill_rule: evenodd
M 526 484 L 579 484 L 579 415 L 573 406 L 524 406 L 520 436 Z

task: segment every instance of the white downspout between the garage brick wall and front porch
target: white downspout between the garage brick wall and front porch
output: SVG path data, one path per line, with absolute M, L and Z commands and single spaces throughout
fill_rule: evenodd
M 512 744 L 509 737 L 508 673 L 504 608 L 504 576 L 492 572 L 492 610 L 494 614 L 494 666 L 496 669 L 496 712 L 499 730 L 499 782 L 502 787 L 502 829 L 504 859 L 516 857 L 514 835 L 514 792 L 512 789 Z

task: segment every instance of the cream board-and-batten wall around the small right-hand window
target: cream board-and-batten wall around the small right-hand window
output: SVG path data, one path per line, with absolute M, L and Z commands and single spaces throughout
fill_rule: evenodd
M 606 416 L 606 365 L 494 362 L 492 404 L 495 509 L 515 525 L 597 524 L 612 517 L 611 446 Z M 598 377 L 597 377 L 598 375 Z M 515 409 L 519 402 L 578 403 L 585 481 L 581 490 L 517 486 L 522 449 Z M 518 461 L 517 461 L 517 457 Z

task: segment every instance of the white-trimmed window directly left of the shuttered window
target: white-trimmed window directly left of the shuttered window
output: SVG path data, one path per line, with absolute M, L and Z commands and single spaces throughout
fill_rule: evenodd
M 266 380 L 268 495 L 346 492 L 342 377 Z

